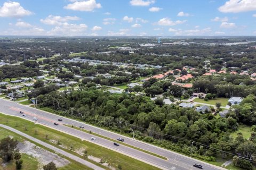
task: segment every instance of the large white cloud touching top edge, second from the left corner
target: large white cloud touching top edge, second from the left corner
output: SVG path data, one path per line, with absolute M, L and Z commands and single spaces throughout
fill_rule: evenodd
M 93 11 L 94 8 L 101 8 L 100 3 L 96 3 L 95 0 L 87 0 L 87 1 L 72 1 L 73 4 L 68 4 L 67 6 L 64 6 L 64 8 L 68 10 L 74 10 L 74 11 Z

